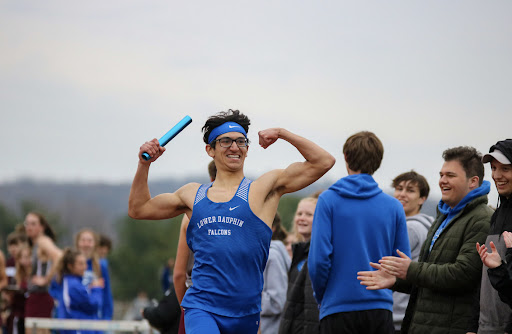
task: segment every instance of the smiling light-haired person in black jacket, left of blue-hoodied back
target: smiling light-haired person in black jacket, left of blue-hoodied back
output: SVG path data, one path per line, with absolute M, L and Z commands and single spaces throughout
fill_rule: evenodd
M 299 202 L 295 212 L 294 229 L 305 241 L 292 246 L 288 292 L 279 334 L 316 334 L 320 331 L 318 305 L 313 296 L 307 264 L 316 202 L 316 198 L 306 197 Z

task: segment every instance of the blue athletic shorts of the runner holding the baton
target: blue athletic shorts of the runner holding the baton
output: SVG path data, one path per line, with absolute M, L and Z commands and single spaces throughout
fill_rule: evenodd
M 232 318 L 196 308 L 185 310 L 187 334 L 256 334 L 260 327 L 260 314 Z

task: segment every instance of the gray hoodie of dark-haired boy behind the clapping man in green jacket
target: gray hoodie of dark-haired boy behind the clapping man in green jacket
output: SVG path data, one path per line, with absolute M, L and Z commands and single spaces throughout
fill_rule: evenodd
M 427 233 L 434 222 L 434 217 L 419 213 L 414 216 L 406 217 L 406 220 L 409 244 L 411 245 L 411 260 L 418 261 L 421 246 L 427 238 Z M 402 320 L 404 319 L 408 303 L 408 294 L 393 292 L 393 323 L 395 330 L 400 330 L 402 327 Z

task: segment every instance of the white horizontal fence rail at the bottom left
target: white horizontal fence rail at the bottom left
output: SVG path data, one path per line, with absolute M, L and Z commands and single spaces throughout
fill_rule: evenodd
M 52 318 L 25 318 L 25 328 L 93 330 L 109 332 L 149 332 L 151 326 L 147 320 L 78 320 L 78 319 L 52 319 Z

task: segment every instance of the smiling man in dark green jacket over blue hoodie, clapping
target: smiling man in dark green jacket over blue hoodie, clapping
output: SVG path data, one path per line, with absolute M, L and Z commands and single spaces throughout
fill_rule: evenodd
M 481 154 L 473 147 L 443 152 L 439 173 L 442 198 L 418 262 L 385 257 L 378 270 L 358 273 L 369 290 L 393 288 L 411 294 L 402 333 L 465 334 L 481 279 L 475 243 L 485 242 L 493 210 L 490 183 L 483 181 Z

